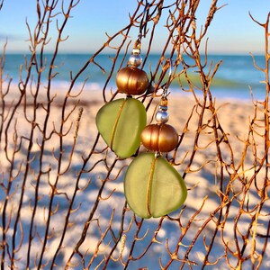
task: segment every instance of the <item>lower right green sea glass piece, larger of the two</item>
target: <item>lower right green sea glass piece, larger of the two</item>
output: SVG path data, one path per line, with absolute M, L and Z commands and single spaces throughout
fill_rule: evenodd
M 182 176 L 164 157 L 143 153 L 130 163 L 124 193 L 130 209 L 148 219 L 175 211 L 184 203 L 187 190 Z

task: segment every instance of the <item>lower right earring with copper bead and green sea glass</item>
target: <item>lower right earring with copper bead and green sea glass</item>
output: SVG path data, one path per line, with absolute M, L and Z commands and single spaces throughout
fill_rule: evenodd
M 130 163 L 124 178 L 124 193 L 130 209 L 148 219 L 164 216 L 179 208 L 187 196 L 184 179 L 163 152 L 170 152 L 178 143 L 174 127 L 167 124 L 167 90 L 155 115 L 156 124 L 142 130 L 140 139 L 151 152 L 139 154 Z

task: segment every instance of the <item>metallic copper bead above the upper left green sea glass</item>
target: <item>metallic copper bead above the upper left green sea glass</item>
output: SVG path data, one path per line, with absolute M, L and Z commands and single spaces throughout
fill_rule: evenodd
M 143 94 L 148 88 L 148 76 L 137 67 L 124 67 L 116 76 L 116 85 L 120 93 Z

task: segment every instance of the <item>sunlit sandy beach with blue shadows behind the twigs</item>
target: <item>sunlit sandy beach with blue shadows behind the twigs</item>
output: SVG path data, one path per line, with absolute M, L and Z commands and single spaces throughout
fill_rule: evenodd
M 14 92 L 16 90 L 13 90 Z M 32 235 L 35 236 L 31 243 L 31 257 L 34 258 L 36 254 L 39 254 L 40 241 L 44 236 L 44 229 L 46 228 L 45 220 L 48 220 L 49 209 L 49 196 L 52 193 L 52 186 L 57 182 L 57 193 L 55 193 L 55 201 L 53 204 L 53 211 L 55 213 L 50 217 L 49 232 L 53 235 L 48 239 L 46 250 L 44 252 L 44 262 L 51 262 L 56 249 L 58 247 L 59 238 L 64 226 L 64 219 L 67 215 L 67 209 L 69 207 L 70 200 L 76 190 L 76 180 L 81 172 L 78 187 L 80 190 L 76 191 L 76 199 L 73 202 L 72 209 L 76 210 L 70 215 L 70 224 L 67 227 L 67 233 L 60 251 L 58 252 L 58 258 L 56 263 L 64 266 L 70 254 L 74 250 L 77 240 L 81 237 L 83 227 L 91 213 L 93 214 L 90 226 L 87 229 L 87 234 L 84 243 L 80 247 L 80 252 L 85 253 L 88 262 L 93 260 L 93 265 L 97 266 L 103 258 L 107 258 L 113 247 L 112 234 L 108 233 L 108 224 L 112 224 L 110 229 L 117 233 L 121 228 L 121 214 L 125 205 L 125 198 L 123 194 L 123 177 L 126 166 L 130 164 L 133 157 L 125 160 L 119 160 L 112 151 L 105 149 L 106 146 L 103 139 L 99 138 L 96 146 L 93 148 L 96 141 L 98 132 L 95 126 L 96 112 L 103 105 L 103 98 L 100 92 L 94 93 L 90 91 L 84 91 L 78 97 L 68 98 L 65 108 L 65 124 L 62 126 L 62 156 L 61 164 L 59 165 L 60 155 L 60 136 L 58 133 L 61 129 L 62 122 L 62 103 L 64 92 L 56 92 L 57 96 L 53 103 L 51 103 L 49 111 L 49 121 L 46 131 L 47 141 L 44 145 L 44 149 L 41 154 L 42 143 L 42 130 L 43 122 L 46 117 L 46 96 L 40 98 L 40 105 L 37 109 L 37 119 L 35 123 L 39 128 L 34 130 L 33 144 L 31 146 L 31 158 L 30 168 L 26 179 L 23 195 L 23 207 L 21 210 L 20 222 L 22 222 L 23 243 L 22 248 L 19 249 L 16 257 L 20 257 L 18 266 L 23 269 L 25 264 L 25 256 L 28 248 L 28 235 L 30 230 L 30 216 L 32 214 L 32 207 L 35 198 L 35 191 L 37 190 L 36 179 L 39 175 L 39 160 L 42 155 L 42 175 L 40 176 L 39 186 L 39 201 L 37 203 L 37 209 L 34 217 L 34 225 L 38 226 L 36 232 L 32 231 Z M 78 92 L 77 92 L 78 93 Z M 72 94 L 76 94 L 73 92 Z M 29 94 L 28 94 L 29 95 Z M 108 95 L 109 96 L 109 95 Z M 18 94 L 11 93 L 6 97 L 6 106 L 13 107 L 11 101 L 17 99 Z M 148 110 L 148 123 L 151 120 L 152 112 L 155 110 L 159 99 L 155 98 Z M 148 100 L 146 101 L 146 103 Z M 21 186 L 23 175 L 25 174 L 25 167 L 27 166 L 27 153 L 28 153 L 28 140 L 31 131 L 31 119 L 33 117 L 33 109 L 31 98 L 27 99 L 26 106 L 20 106 L 14 114 L 14 120 L 7 132 L 8 135 L 8 157 L 11 158 L 14 147 L 14 127 L 17 132 L 18 138 L 22 139 L 19 151 L 15 152 L 16 162 L 13 175 L 14 182 L 10 191 L 12 200 L 8 202 L 6 208 L 7 216 L 11 216 L 10 228 L 6 230 L 8 241 L 12 238 L 12 230 L 14 226 L 14 217 L 18 210 L 18 202 L 21 196 Z M 43 105 L 41 105 L 43 103 Z M 202 104 L 202 99 L 200 99 Z M 209 103 L 207 103 L 209 106 Z M 78 114 L 80 108 L 83 108 L 83 112 L 80 115 L 78 122 Z M 187 252 L 189 247 L 193 245 L 193 239 L 198 231 L 202 231 L 197 236 L 195 244 L 191 248 L 189 254 L 189 260 L 193 261 L 199 267 L 202 264 L 205 254 L 207 253 L 206 245 L 210 245 L 211 237 L 216 229 L 215 222 L 219 219 L 220 204 L 223 208 L 223 213 L 220 219 L 220 229 L 218 236 L 215 238 L 214 250 L 211 251 L 209 262 L 213 262 L 220 258 L 218 264 L 222 269 L 229 269 L 224 257 L 224 252 L 228 252 L 228 248 L 231 251 L 237 250 L 237 244 L 235 243 L 234 233 L 241 232 L 242 235 L 247 233 L 250 226 L 250 219 L 255 214 L 255 211 L 251 211 L 250 216 L 242 214 L 238 216 L 239 209 L 243 207 L 241 205 L 240 197 L 247 193 L 243 192 L 243 183 L 238 179 L 232 181 L 229 179 L 232 174 L 229 171 L 229 164 L 231 163 L 231 151 L 234 156 L 234 167 L 241 166 L 239 174 L 246 174 L 246 177 L 250 178 L 253 174 L 253 170 L 249 169 L 253 166 L 253 158 L 250 153 L 247 155 L 245 162 L 241 163 L 243 157 L 243 151 L 245 149 L 244 141 L 247 140 L 248 129 L 251 119 L 254 116 L 254 106 L 252 102 L 241 101 L 237 99 L 220 99 L 215 102 L 215 113 L 218 116 L 219 125 L 226 133 L 227 142 L 220 143 L 223 157 L 223 193 L 226 192 L 225 181 L 228 181 L 232 190 L 238 190 L 238 197 L 229 193 L 230 201 L 226 201 L 220 194 L 220 161 L 217 157 L 217 148 L 215 144 L 215 137 L 211 125 L 213 123 L 213 117 L 210 109 L 206 109 L 202 118 L 202 127 L 200 136 L 197 142 L 197 149 L 193 155 L 194 141 L 196 134 L 198 134 L 198 122 L 200 120 L 200 112 L 202 106 L 198 106 L 195 102 L 192 94 L 170 94 L 168 112 L 170 114 L 169 124 L 173 125 L 178 131 L 181 144 L 175 155 L 175 168 L 180 174 L 184 174 L 184 181 L 188 188 L 188 196 L 184 202 L 184 209 L 182 211 L 175 211 L 170 215 L 174 219 L 165 218 L 162 219 L 162 226 L 158 227 L 159 219 L 144 220 L 142 229 L 139 231 L 139 238 L 141 241 L 137 241 L 135 251 L 132 256 L 136 257 L 148 246 L 148 243 L 152 242 L 155 231 L 157 232 L 157 242 L 151 244 L 148 249 L 148 253 L 139 261 L 132 261 L 130 263 L 131 269 L 134 267 L 148 266 L 148 269 L 154 269 L 159 266 L 158 258 L 162 258 L 162 264 L 166 265 L 166 262 L 170 259 L 168 254 L 169 248 L 173 252 L 175 248 L 178 248 L 178 239 L 181 235 L 184 238 L 181 239 L 182 247 L 178 253 L 179 261 L 175 262 L 175 266 L 181 265 L 182 254 Z M 25 121 L 27 116 L 29 121 Z M 261 116 L 258 116 L 261 117 Z M 78 126 L 79 124 L 79 126 Z M 4 122 L 5 126 L 5 122 Z M 220 131 L 219 131 L 220 132 Z M 219 134 L 221 138 L 221 134 Z M 10 162 L 5 156 L 4 150 L 5 135 L 2 134 L 1 140 L 1 158 L 0 167 L 1 174 L 4 178 L 4 185 L 7 186 L 7 179 L 10 170 Z M 18 147 L 18 145 L 17 145 Z M 230 148 L 231 149 L 230 149 Z M 263 147 L 257 146 L 257 155 L 261 157 L 260 151 L 263 153 Z M 143 147 L 139 151 L 145 151 Z M 172 153 L 168 155 L 168 158 L 172 157 Z M 115 160 L 117 162 L 115 163 Z M 190 158 L 193 158 L 191 166 L 188 166 Z M 85 162 L 87 160 L 87 162 Z M 84 166 L 85 162 L 85 166 Z M 247 171 L 245 171 L 247 170 Z M 108 174 L 108 172 L 110 172 Z M 259 181 L 258 181 L 259 182 Z M 253 184 L 252 184 L 253 185 Z M 16 188 L 17 186 L 17 188 Z M 101 193 L 99 193 L 101 192 Z M 1 207 L 4 205 L 4 192 L 1 193 Z M 223 200 L 223 202 L 220 202 Z M 257 205 L 258 196 L 255 190 L 251 190 L 248 193 L 249 207 Z M 96 202 L 98 202 L 96 204 Z M 231 204 L 230 207 L 226 203 Z M 266 213 L 266 207 L 269 207 L 270 203 L 267 200 L 264 204 L 264 210 Z M 268 208 L 269 209 L 269 208 Z M 228 213 L 224 213 L 226 211 Z M 181 216 L 181 224 L 177 221 L 177 217 Z M 238 216 L 239 221 L 237 227 L 234 227 L 234 219 Z M 211 217 L 214 217 L 211 219 Z M 210 219 L 210 220 L 209 220 Z M 110 221 L 111 220 L 111 221 Z M 190 222 L 192 220 L 192 222 Z M 260 217 L 261 223 L 266 224 L 267 218 Z M 181 226 L 180 226 L 181 225 Z M 158 229 L 157 229 L 158 228 Z M 186 229 L 186 231 L 184 230 Z M 109 230 L 110 230 L 109 229 Z M 121 260 L 125 262 L 130 256 L 131 243 L 136 233 L 137 226 L 133 217 L 133 213 L 130 210 L 125 212 L 125 219 L 123 220 L 123 234 L 126 236 L 126 241 L 123 247 L 121 242 L 112 253 L 112 257 L 119 258 L 109 266 L 118 267 L 121 269 Z M 106 233 L 105 233 L 106 232 Z M 266 225 L 257 227 L 257 233 L 266 234 Z M 39 237 L 38 237 L 39 235 Z M 145 235 L 145 237 L 144 237 Z M 206 242 L 203 244 L 203 238 Z M 240 237 L 239 244 L 242 243 Z M 102 240 L 102 242 L 100 242 Z M 19 240 L 18 240 L 19 241 Z M 228 247 L 224 247 L 226 241 Z M 248 246 L 248 245 L 247 245 Z M 264 246 L 263 239 L 257 240 L 257 248 L 261 249 Z M 250 248 L 248 246 L 248 248 Z M 250 249 L 248 249 L 250 252 Z M 269 266 L 269 246 L 266 248 L 265 267 Z M 94 256 L 94 257 L 93 257 Z M 233 264 L 235 259 L 231 254 L 230 263 Z M 120 259 L 121 258 L 121 259 Z M 268 258 L 268 262 L 267 262 Z M 74 257 L 74 262 L 78 262 L 79 258 Z M 137 263 L 140 262 L 140 265 Z M 142 265 L 141 265 L 142 264 Z M 108 269 L 110 267 L 108 266 Z M 217 267 L 218 267 L 217 266 Z M 133 268 L 132 268 L 133 267 Z M 154 267 L 154 268 L 152 268 Z M 77 269 L 80 269 L 79 267 Z M 91 268 L 92 269 L 92 268 Z M 94 269 L 94 268 L 93 268 Z M 155 268 L 157 269 L 157 268 Z M 198 268 L 194 268 L 198 269 Z M 216 269 L 216 268 L 212 268 Z

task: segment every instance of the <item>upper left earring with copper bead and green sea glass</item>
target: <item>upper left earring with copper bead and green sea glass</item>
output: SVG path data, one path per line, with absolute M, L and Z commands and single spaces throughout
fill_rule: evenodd
M 147 113 L 145 107 L 132 95 L 144 94 L 148 89 L 148 76 L 138 67 L 142 63 L 140 56 L 141 31 L 146 29 L 143 23 L 148 4 L 145 6 L 143 18 L 139 25 L 139 37 L 136 40 L 128 67 L 123 67 L 116 76 L 118 92 L 126 94 L 126 98 L 106 103 L 97 112 L 96 126 L 105 143 L 118 157 L 130 157 L 139 148 L 139 135 L 146 126 Z

